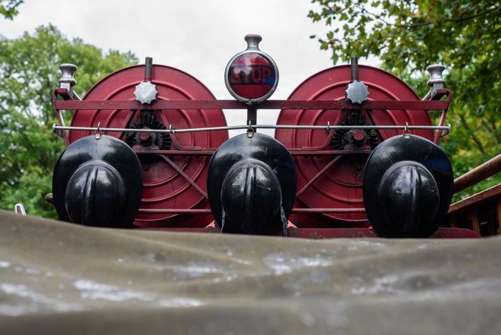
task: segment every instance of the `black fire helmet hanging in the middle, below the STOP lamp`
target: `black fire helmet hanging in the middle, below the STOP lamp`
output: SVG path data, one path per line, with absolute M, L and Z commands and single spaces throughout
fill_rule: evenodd
M 215 151 L 208 170 L 207 191 L 217 227 L 277 234 L 291 214 L 296 184 L 294 160 L 282 143 L 261 133 L 231 137 Z M 282 208 L 277 208 L 280 201 Z

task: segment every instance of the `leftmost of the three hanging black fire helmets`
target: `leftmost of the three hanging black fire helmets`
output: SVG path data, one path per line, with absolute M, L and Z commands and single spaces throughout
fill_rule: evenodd
M 134 151 L 116 137 L 82 137 L 54 168 L 59 218 L 84 225 L 131 228 L 141 202 L 143 174 Z

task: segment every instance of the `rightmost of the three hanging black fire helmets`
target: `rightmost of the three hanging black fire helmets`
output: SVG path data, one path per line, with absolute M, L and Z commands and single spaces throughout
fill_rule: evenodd
M 440 147 L 417 135 L 380 143 L 365 165 L 367 218 L 380 237 L 430 237 L 449 209 L 454 175 Z

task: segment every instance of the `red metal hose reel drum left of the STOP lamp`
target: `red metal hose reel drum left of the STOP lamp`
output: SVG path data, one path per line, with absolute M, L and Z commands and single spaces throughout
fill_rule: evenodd
M 134 89 L 144 80 L 145 68 L 142 65 L 123 68 L 108 75 L 89 90 L 84 97 L 87 101 L 135 100 Z M 153 65 L 152 80 L 156 85 L 157 100 L 214 100 L 213 94 L 199 80 L 183 71 L 169 66 Z M 154 103 L 152 108 L 154 108 Z M 134 110 L 77 110 L 72 118 L 72 126 L 92 126 L 101 128 L 130 128 L 134 124 L 144 124 L 144 119 L 138 119 L 139 111 Z M 203 128 L 226 126 L 222 110 L 151 110 L 155 120 L 148 128 Z M 142 123 L 141 123 L 142 122 Z M 71 131 L 70 142 L 80 137 L 91 135 L 86 131 Z M 123 133 L 107 133 L 121 140 L 126 140 Z M 147 137 L 139 133 L 139 138 Z M 227 131 L 211 131 L 201 133 L 176 133 L 169 135 L 164 141 L 163 150 L 191 151 L 187 156 L 166 154 L 178 169 L 192 179 L 203 191 L 206 191 L 206 179 L 209 156 L 196 156 L 197 151 L 215 149 L 228 139 Z M 169 142 L 170 141 L 170 142 Z M 134 148 L 134 147 L 133 147 Z M 160 156 L 139 154 L 143 168 L 144 186 L 134 224 L 144 228 L 149 227 L 205 227 L 213 216 L 199 214 L 186 216 L 178 214 L 145 214 L 141 209 L 206 209 L 208 201 L 194 188 L 183 175 L 174 169 Z M 154 159 L 152 159 L 152 157 Z

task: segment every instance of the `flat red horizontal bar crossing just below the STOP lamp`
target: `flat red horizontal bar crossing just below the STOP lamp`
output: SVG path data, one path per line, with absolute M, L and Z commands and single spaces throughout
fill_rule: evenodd
M 259 110 L 447 110 L 450 101 L 366 101 L 269 100 L 254 104 Z M 159 100 L 141 105 L 134 100 L 72 101 L 54 100 L 56 110 L 246 110 L 249 105 L 235 100 Z

